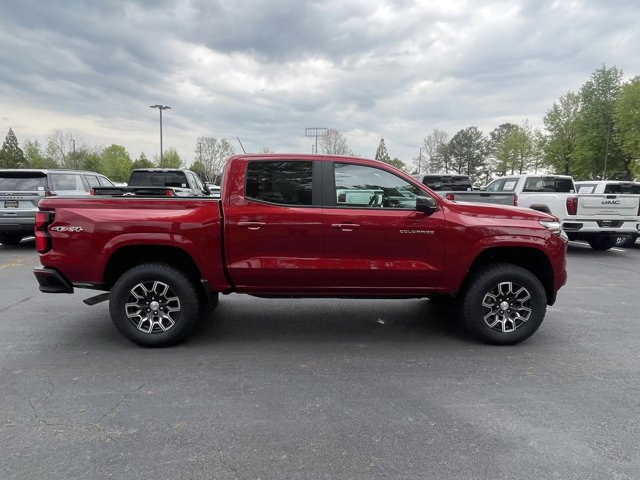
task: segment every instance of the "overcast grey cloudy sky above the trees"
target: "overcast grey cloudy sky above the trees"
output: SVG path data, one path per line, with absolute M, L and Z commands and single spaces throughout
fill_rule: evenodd
M 132 158 L 190 163 L 199 136 L 248 152 L 311 152 L 338 129 L 410 162 L 450 135 L 528 120 L 602 65 L 640 74 L 636 0 L 8 0 L 0 139 L 64 130 Z

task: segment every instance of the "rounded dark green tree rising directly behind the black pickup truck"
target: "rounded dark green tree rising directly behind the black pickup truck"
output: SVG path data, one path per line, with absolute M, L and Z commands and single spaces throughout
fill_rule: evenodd
M 475 183 L 480 178 L 487 158 L 487 141 L 478 127 L 460 130 L 447 146 L 451 168 L 456 173 L 466 173 Z

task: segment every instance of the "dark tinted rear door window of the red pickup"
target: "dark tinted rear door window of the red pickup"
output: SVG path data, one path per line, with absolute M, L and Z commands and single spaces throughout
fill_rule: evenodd
M 249 162 L 245 197 L 285 205 L 312 205 L 312 184 L 312 162 Z

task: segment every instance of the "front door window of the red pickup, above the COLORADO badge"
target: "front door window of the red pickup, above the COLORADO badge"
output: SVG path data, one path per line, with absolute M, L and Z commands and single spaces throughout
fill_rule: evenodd
M 336 205 L 349 208 L 403 208 L 415 210 L 417 187 L 379 168 L 334 164 Z

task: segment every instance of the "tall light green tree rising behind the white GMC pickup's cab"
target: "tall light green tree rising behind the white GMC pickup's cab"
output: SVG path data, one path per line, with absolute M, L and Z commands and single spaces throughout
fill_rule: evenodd
M 573 175 L 580 96 L 568 92 L 544 116 L 544 164 L 554 173 Z

